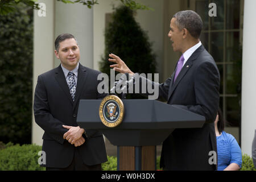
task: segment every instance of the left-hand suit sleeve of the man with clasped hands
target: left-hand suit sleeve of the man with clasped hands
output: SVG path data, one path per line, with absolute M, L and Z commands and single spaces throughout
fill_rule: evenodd
M 34 98 L 35 122 L 51 137 L 59 143 L 63 143 L 63 135 L 68 130 L 64 129 L 63 122 L 55 119 L 49 109 L 47 90 L 42 77 L 38 77 Z

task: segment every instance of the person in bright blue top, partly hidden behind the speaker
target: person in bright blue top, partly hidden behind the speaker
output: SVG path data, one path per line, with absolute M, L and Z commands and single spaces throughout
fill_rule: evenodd
M 238 171 L 242 166 L 241 148 L 233 135 L 224 131 L 225 121 L 220 108 L 214 125 L 217 140 L 217 171 Z

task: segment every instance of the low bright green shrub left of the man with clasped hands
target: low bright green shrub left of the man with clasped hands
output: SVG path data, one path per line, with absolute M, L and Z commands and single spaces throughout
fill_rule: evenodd
M 38 152 L 42 146 L 35 144 L 7 144 L 0 150 L 0 171 L 43 171 L 38 164 Z

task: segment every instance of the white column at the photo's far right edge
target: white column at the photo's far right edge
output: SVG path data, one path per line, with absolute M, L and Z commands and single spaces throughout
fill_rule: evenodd
M 256 129 L 256 1 L 245 0 L 243 15 L 242 57 L 242 121 L 241 148 L 243 154 L 251 156 L 251 143 Z

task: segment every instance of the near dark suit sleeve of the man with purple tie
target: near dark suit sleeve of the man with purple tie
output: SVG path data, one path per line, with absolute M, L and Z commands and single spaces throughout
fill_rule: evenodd
M 191 79 L 195 82 L 196 105 L 174 106 L 204 115 L 206 122 L 214 122 L 220 96 L 218 69 L 209 61 L 204 62 L 199 65 Z

